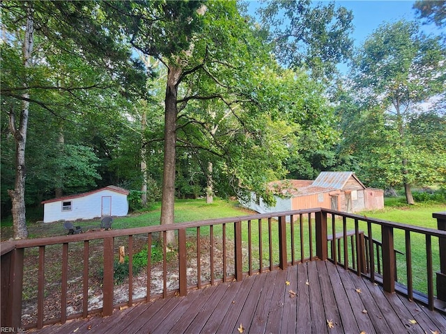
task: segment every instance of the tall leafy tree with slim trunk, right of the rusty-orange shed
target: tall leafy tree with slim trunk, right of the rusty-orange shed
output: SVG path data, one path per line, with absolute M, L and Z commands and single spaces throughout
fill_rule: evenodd
M 374 133 L 380 132 L 383 142 L 372 150 L 379 157 L 374 163 L 389 184 L 403 184 L 407 202 L 413 204 L 411 185 L 426 180 L 430 151 L 422 150 L 426 147 L 416 140 L 410 122 L 426 113 L 421 102 L 445 93 L 445 48 L 439 38 L 420 33 L 415 23 L 383 24 L 358 51 L 353 70 L 357 92 L 367 95 L 373 113 L 382 113 Z M 429 168 L 429 180 L 441 180 L 443 168 L 434 169 Z

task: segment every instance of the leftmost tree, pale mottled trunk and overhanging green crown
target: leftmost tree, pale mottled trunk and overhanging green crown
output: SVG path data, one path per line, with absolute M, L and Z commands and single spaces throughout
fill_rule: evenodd
M 25 148 L 31 108 L 42 108 L 49 114 L 58 115 L 55 101 L 59 100 L 59 95 L 65 94 L 65 105 L 70 105 L 65 110 L 74 110 L 81 105 L 81 95 L 88 96 L 84 94 L 86 90 L 111 88 L 116 79 L 124 86 L 136 72 L 129 61 L 128 45 L 123 45 L 117 31 L 112 33 L 112 24 L 100 22 L 98 5 L 94 1 L 2 1 L 1 9 L 1 28 L 6 35 L 2 61 L 10 65 L 6 72 L 2 71 L 1 98 L 2 102 L 8 103 L 10 132 L 17 146 L 15 188 L 10 191 L 10 197 L 15 237 L 24 238 L 27 235 Z M 20 56 L 16 52 L 19 43 L 22 43 Z M 8 59 L 4 58 L 6 54 Z M 63 61 L 59 63 L 61 67 L 55 66 L 56 62 L 52 61 L 55 55 L 82 59 L 81 63 L 96 65 L 109 72 L 86 84 L 82 80 L 85 78 L 82 70 L 66 72 Z M 128 94 L 132 88 L 126 86 L 128 89 L 123 93 Z M 68 103 L 68 95 L 71 103 Z M 22 104 L 20 119 L 16 117 L 17 102 Z

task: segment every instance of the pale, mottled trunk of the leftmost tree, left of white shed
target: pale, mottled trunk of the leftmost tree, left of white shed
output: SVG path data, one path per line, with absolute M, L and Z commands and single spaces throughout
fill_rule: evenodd
M 31 5 L 29 5 L 31 6 Z M 31 56 L 33 53 L 33 13 L 30 7 L 27 8 L 26 28 L 23 43 L 23 64 L 24 67 L 31 67 Z M 27 84 L 24 82 L 24 86 Z M 10 132 L 15 139 L 15 188 L 9 190 L 8 194 L 13 202 L 13 227 L 15 239 L 26 239 L 28 229 L 26 228 L 26 208 L 25 208 L 25 148 L 26 131 L 28 129 L 29 117 L 29 93 L 22 94 L 22 111 L 20 112 L 20 122 L 18 129 L 15 126 L 14 112 L 10 113 Z

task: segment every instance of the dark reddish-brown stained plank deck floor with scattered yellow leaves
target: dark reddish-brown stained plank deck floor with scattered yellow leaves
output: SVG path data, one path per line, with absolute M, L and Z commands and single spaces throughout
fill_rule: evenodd
M 110 317 L 76 319 L 32 332 L 239 333 L 240 324 L 243 333 L 446 333 L 445 315 L 383 292 L 328 261 L 306 262 L 193 290 L 184 297 L 115 310 Z

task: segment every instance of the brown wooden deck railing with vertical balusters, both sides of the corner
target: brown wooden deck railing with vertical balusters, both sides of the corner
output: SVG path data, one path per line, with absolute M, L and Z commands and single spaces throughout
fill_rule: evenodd
M 445 218 L 436 218 L 441 229 Z M 174 231 L 172 244 L 167 243 L 168 231 Z M 394 242 L 399 233 L 405 245 L 401 254 Z M 415 236 L 425 240 L 424 293 L 413 284 L 420 280 L 411 257 Z M 42 328 L 96 312 L 107 316 L 115 308 L 185 296 L 190 289 L 316 259 L 331 260 L 433 309 L 434 281 L 443 284 L 446 276 L 445 245 L 442 230 L 327 209 L 8 241 L 1 244 L 1 324 Z M 120 249 L 127 253 L 123 264 Z M 123 268 L 128 278 L 122 277 Z M 438 291 L 445 301 L 443 290 Z

